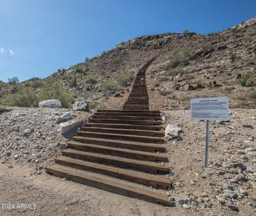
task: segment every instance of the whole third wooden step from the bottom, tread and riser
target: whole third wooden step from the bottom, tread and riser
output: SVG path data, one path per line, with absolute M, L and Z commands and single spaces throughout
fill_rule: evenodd
M 83 152 L 75 149 L 67 148 L 62 151 L 63 156 L 72 157 L 74 159 L 81 159 L 84 161 L 91 161 L 102 164 L 114 165 L 115 167 L 122 167 L 127 169 L 140 170 L 149 173 L 167 174 L 169 168 L 161 164 L 152 162 L 145 162 L 124 157 L 110 156 L 98 153 Z

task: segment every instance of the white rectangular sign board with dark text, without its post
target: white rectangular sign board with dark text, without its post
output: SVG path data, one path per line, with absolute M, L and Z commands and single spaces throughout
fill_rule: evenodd
M 190 101 L 191 119 L 228 120 L 228 98 L 195 98 Z

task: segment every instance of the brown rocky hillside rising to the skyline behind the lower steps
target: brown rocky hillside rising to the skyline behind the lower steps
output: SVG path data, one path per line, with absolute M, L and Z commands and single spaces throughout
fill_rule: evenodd
M 68 87 L 74 93 L 75 101 L 83 98 L 93 103 L 93 106 L 110 107 L 109 102 L 115 91 L 104 91 L 104 82 L 116 80 L 126 70 L 134 75 L 145 62 L 156 57 L 147 71 L 151 91 L 154 91 L 154 95 L 155 91 L 159 92 L 159 95 L 151 96 L 152 108 L 188 108 L 187 101 L 191 97 L 221 95 L 230 98 L 231 107 L 252 108 L 256 106 L 255 94 L 251 95 L 255 92 L 255 74 L 246 87 L 239 84 L 237 76 L 241 74 L 244 77 L 255 68 L 255 44 L 256 18 L 215 34 L 167 32 L 163 35 L 141 36 L 122 42 L 90 61 L 67 70 L 58 70 L 45 80 L 57 79 L 68 86 L 70 80 L 76 77 L 77 85 Z M 185 56 L 186 61 L 171 73 L 166 73 L 165 69 L 178 55 Z M 95 78 L 97 82 L 86 84 L 88 77 Z M 6 95 L 11 88 L 9 84 L 0 84 L 1 95 Z M 121 86 L 117 91 L 126 92 L 126 88 Z

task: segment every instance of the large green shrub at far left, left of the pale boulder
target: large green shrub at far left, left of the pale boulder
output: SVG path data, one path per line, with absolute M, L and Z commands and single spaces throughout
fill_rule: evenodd
M 31 87 L 17 85 L 17 91 L 10 93 L 6 98 L 9 106 L 32 107 L 38 105 L 38 99 Z

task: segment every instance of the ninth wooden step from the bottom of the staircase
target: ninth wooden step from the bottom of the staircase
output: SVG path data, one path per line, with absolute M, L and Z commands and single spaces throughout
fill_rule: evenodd
M 135 124 L 135 125 L 162 125 L 162 121 L 142 121 L 142 120 L 120 120 L 120 119 L 89 119 L 91 123 L 113 123 L 113 124 Z

